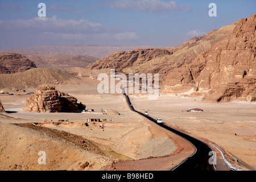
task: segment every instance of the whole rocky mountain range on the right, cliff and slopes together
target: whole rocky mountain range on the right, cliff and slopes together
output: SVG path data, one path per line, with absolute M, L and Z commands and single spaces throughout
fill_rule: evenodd
M 207 102 L 253 101 L 255 16 L 237 20 L 177 47 L 115 52 L 87 68 L 159 73 L 162 93 L 184 93 L 193 89 L 192 96 L 206 94 L 202 101 Z M 158 54 L 151 56 L 152 52 Z

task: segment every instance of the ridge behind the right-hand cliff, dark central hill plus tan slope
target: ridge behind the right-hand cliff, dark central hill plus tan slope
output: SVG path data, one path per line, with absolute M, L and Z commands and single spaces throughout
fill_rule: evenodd
M 162 84 L 172 69 L 191 63 L 197 55 L 229 36 L 238 22 L 240 20 L 219 30 L 213 30 L 207 35 L 192 38 L 177 47 L 150 49 L 147 52 L 140 49 L 115 52 L 87 68 L 115 68 L 123 73 L 159 73 L 159 81 Z M 151 56 L 152 54 L 155 56 Z

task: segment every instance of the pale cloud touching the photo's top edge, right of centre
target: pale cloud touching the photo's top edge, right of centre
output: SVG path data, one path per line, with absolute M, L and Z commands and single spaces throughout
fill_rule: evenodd
M 175 1 L 164 2 L 160 0 L 118 0 L 110 3 L 110 7 L 121 10 L 135 9 L 139 12 L 150 13 L 191 10 L 188 4 L 178 5 Z

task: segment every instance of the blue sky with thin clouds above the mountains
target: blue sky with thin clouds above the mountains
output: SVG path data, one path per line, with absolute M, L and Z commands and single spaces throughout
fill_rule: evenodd
M 39 3 L 46 17 L 38 16 Z M 217 17 L 210 17 L 216 3 Z M 256 1 L 0 0 L 0 50 L 11 47 L 178 46 L 256 13 Z

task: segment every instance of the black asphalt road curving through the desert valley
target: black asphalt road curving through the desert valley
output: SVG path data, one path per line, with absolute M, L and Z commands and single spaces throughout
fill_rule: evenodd
M 192 156 L 184 160 L 183 163 L 172 169 L 172 171 L 216 171 L 214 166 L 209 164 L 208 162 L 210 158 L 209 152 L 212 151 L 212 149 L 206 143 L 201 142 L 200 140 L 184 134 L 180 131 L 172 129 L 170 126 L 167 126 L 164 123 L 158 123 L 156 119 L 150 117 L 149 115 L 145 115 L 135 110 L 133 105 L 131 104 L 129 96 L 126 95 L 124 88 L 123 95 L 126 97 L 127 104 L 130 106 L 130 109 L 132 111 L 141 114 L 143 117 L 150 119 L 150 121 L 156 123 L 157 125 L 162 126 L 169 131 L 172 131 L 173 133 L 179 135 L 180 137 L 183 137 L 184 139 L 187 139 L 196 148 L 196 152 Z

